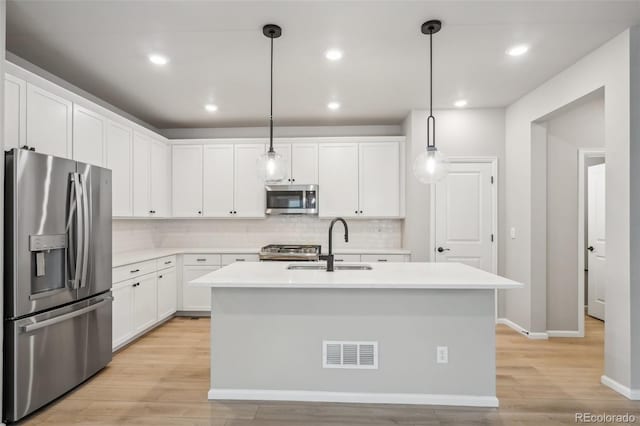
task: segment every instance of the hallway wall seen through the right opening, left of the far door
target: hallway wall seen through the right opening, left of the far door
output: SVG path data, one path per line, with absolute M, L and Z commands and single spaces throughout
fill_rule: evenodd
M 578 330 L 578 149 L 604 147 L 604 92 L 546 120 L 547 330 Z

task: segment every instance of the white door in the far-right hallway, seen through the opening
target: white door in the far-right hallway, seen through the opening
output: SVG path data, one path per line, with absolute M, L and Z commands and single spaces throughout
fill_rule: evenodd
M 605 261 L 605 165 L 590 166 L 587 170 L 587 241 L 588 295 L 590 316 L 604 321 Z

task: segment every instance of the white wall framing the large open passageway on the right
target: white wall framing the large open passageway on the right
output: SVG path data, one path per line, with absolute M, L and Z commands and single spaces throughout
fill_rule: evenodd
M 631 288 L 633 284 L 634 291 L 637 291 L 639 289 L 635 287 L 640 285 L 640 271 L 634 271 L 632 280 L 630 262 L 631 256 L 638 255 L 635 250 L 640 250 L 640 247 L 631 245 L 632 241 L 640 242 L 640 227 L 632 228 L 630 222 L 632 190 L 638 193 L 640 213 L 640 186 L 632 186 L 630 180 L 630 48 L 632 43 L 635 49 L 638 48 L 636 43 L 640 37 L 637 33 L 637 30 L 625 31 L 509 106 L 506 112 L 505 228 L 514 227 L 517 237 L 506 240 L 504 272 L 509 278 L 525 283 L 525 287 L 505 293 L 504 315 L 525 329 L 539 332 L 546 329 L 546 306 L 536 306 L 532 300 L 540 286 L 546 288 L 546 283 L 544 280 L 532 280 L 532 265 L 537 260 L 536 256 L 546 256 L 546 250 L 535 246 L 532 239 L 532 234 L 545 232 L 533 226 L 532 220 L 532 194 L 537 184 L 532 179 L 532 123 L 591 92 L 602 87 L 605 89 L 608 164 L 605 374 L 627 387 L 640 387 L 640 371 L 636 381 L 632 383 L 631 380 L 631 360 L 635 359 L 635 363 L 640 360 L 640 330 L 630 326 Z M 640 67 L 636 71 L 640 71 Z M 640 96 L 636 96 L 638 98 Z M 637 130 L 640 136 L 640 128 Z M 640 152 L 636 154 L 640 160 Z M 640 217 L 638 213 L 633 216 Z M 632 231 L 638 235 L 631 237 Z M 637 261 L 634 263 L 638 264 Z M 637 302 L 640 302 L 640 294 Z M 634 305 L 634 316 L 638 315 L 637 319 L 640 319 L 640 314 L 635 312 L 637 310 L 640 310 L 640 303 Z M 541 324 L 545 328 L 539 329 Z M 632 331 L 638 344 L 634 348 L 638 352 L 634 353 L 631 352 Z

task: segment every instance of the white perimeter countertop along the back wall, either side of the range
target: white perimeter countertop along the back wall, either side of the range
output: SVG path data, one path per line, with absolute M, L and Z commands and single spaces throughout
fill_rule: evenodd
M 142 250 L 129 250 L 115 252 L 112 254 L 112 267 L 129 265 L 131 263 L 144 262 L 145 260 L 157 259 L 159 257 L 171 256 L 175 254 L 258 254 L 259 247 L 187 247 L 187 248 L 150 248 Z M 335 249 L 335 254 L 411 254 L 404 249 L 368 249 L 349 248 Z

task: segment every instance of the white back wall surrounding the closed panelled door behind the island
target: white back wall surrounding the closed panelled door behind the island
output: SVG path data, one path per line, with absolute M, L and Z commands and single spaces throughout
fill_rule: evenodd
M 429 259 L 429 187 L 413 176 L 413 160 L 425 149 L 426 111 L 411 111 L 404 122 L 406 137 L 406 219 L 403 245 L 414 261 Z M 436 145 L 450 157 L 491 156 L 498 158 L 498 222 L 504 220 L 504 110 L 459 109 L 435 111 Z M 504 236 L 498 233 L 498 269 L 502 270 Z

